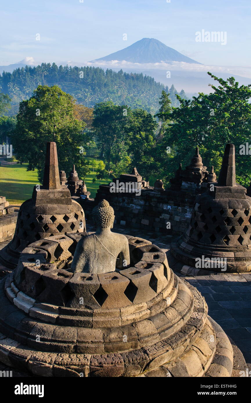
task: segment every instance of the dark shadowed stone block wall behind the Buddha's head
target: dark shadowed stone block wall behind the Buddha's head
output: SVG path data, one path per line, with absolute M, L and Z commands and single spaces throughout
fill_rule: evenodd
M 114 209 L 115 223 L 165 233 L 180 235 L 188 228 L 192 206 L 197 194 L 187 191 L 154 191 L 153 187 L 141 189 L 141 194 L 111 193 L 110 187 L 100 185 L 95 199 L 76 201 L 81 204 L 86 218 L 101 199 L 106 199 Z M 170 229 L 167 229 L 170 222 Z

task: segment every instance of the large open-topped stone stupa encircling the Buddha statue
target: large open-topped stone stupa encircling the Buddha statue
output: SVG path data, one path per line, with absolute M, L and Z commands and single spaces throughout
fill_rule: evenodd
M 109 229 L 104 211 L 95 214 Z M 207 316 L 199 291 L 170 270 L 165 253 L 150 241 L 123 238 L 130 251 L 124 269 L 112 262 L 110 272 L 72 271 L 77 241 L 92 235 L 54 240 L 61 251 L 56 262 L 46 246 L 50 237 L 36 241 L 2 279 L 3 364 L 30 376 L 73 377 L 229 377 L 246 368 L 241 353 L 238 364 L 233 360 L 232 345 Z M 109 253 L 116 249 L 96 236 L 102 245 L 97 241 L 87 255 L 80 251 L 90 268 L 96 254 L 102 260 L 107 253 L 104 246 Z

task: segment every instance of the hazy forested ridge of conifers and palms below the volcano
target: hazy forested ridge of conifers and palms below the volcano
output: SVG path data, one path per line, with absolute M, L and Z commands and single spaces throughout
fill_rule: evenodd
M 104 71 L 99 67 L 69 67 L 42 63 L 41 66 L 25 66 L 13 73 L 0 75 L 0 91 L 8 94 L 12 100 L 11 115 L 17 114 L 19 102 L 31 97 L 38 85 L 58 85 L 72 95 L 77 103 L 94 106 L 96 103 L 112 101 L 117 105 L 127 104 L 131 108 L 144 108 L 156 113 L 161 92 L 170 94 L 172 106 L 178 106 L 176 94 L 186 99 L 174 85 L 170 88 L 157 83 L 152 77 L 142 73 Z

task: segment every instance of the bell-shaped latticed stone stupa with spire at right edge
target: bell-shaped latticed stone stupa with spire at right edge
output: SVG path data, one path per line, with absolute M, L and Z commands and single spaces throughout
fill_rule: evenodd
M 172 245 L 173 256 L 194 267 L 198 258 L 207 258 L 212 271 L 250 272 L 251 198 L 246 192 L 235 180 L 234 145 L 227 144 L 218 183 L 208 183 L 207 192 L 197 196 L 188 230 Z M 225 267 L 218 267 L 216 259 Z

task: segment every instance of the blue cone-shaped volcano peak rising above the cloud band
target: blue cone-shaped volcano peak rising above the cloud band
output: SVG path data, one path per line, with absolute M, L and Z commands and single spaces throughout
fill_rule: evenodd
M 177 50 L 169 48 L 169 46 L 166 46 L 162 42 L 158 41 L 158 39 L 154 38 L 140 39 L 140 41 L 135 42 L 125 49 L 111 53 L 108 56 L 92 60 L 92 62 L 99 60 L 125 60 L 132 63 L 186 62 L 201 64 L 196 60 L 190 59 L 190 57 L 184 56 L 184 54 L 177 52 Z

